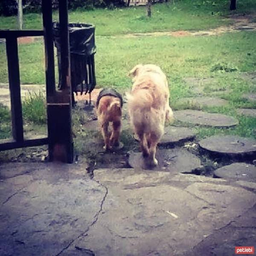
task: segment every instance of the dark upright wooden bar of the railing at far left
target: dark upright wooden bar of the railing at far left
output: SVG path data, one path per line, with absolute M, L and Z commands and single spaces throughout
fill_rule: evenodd
M 18 142 L 23 142 L 23 119 L 20 97 L 20 68 L 18 44 L 16 37 L 6 38 L 6 55 L 8 63 L 9 90 L 12 111 L 12 136 Z

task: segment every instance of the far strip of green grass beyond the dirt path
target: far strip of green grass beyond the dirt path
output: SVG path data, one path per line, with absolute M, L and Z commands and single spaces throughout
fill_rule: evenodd
M 92 23 L 96 25 L 96 35 L 117 35 L 130 32 L 154 32 L 167 30 L 209 29 L 227 24 L 223 20 L 228 15 L 229 0 L 182 0 L 156 4 L 152 7 L 152 17 L 146 16 L 145 6 L 123 9 L 95 9 L 69 12 L 70 22 Z M 256 9 L 254 0 L 243 0 L 237 4 L 237 13 L 248 13 Z M 53 13 L 58 20 L 58 12 Z M 203 21 L 203 22 L 202 22 Z M 17 29 L 16 17 L 0 17 L 1 29 Z M 41 14 L 25 14 L 25 29 L 42 29 Z

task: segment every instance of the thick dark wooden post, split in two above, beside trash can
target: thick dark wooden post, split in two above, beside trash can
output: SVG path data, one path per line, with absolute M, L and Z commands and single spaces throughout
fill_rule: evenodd
M 70 52 L 67 0 L 59 1 L 61 43 L 61 91 L 55 91 L 52 36 L 52 1 L 42 0 L 47 78 L 49 159 L 73 163 L 71 130 Z

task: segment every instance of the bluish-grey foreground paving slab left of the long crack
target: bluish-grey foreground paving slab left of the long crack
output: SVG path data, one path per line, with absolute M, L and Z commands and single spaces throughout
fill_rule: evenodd
M 26 174 L 14 175 L 15 169 L 25 167 Z M 85 167 L 1 166 L 1 176 L 9 177 L 0 182 L 1 256 L 58 255 L 86 233 L 98 217 L 106 189 L 87 176 Z

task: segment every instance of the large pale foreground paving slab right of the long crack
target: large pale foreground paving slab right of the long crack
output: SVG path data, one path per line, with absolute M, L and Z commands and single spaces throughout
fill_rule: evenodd
M 179 187 L 169 184 L 172 177 L 134 169 L 95 170 L 94 179 L 108 187 L 102 214 L 65 255 L 74 255 L 79 247 L 101 256 L 181 256 L 239 215 L 255 227 L 247 215 L 256 202 L 254 193 L 210 181 L 181 182 Z

